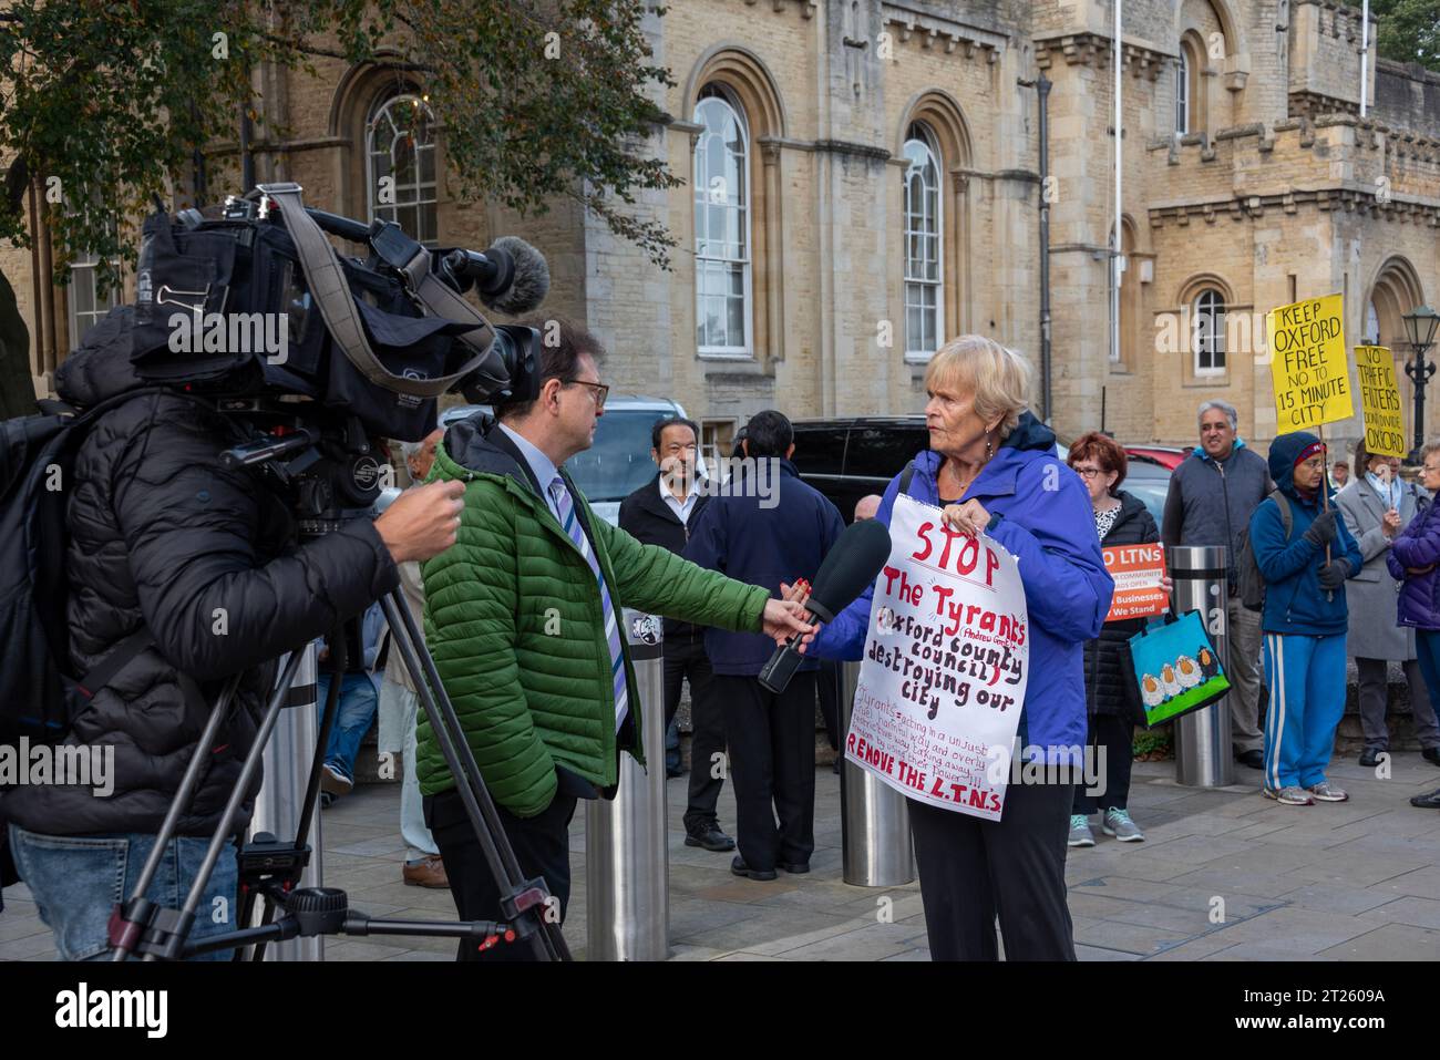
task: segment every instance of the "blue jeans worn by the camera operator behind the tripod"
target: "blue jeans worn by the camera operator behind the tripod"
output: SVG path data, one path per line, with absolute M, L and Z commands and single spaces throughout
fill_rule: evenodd
M 35 896 L 40 919 L 55 932 L 60 961 L 111 959 L 111 910 L 134 893 L 154 843 L 154 835 L 141 832 L 40 835 L 10 825 L 16 867 Z M 209 845 L 209 838 L 171 840 L 145 897 L 166 909 L 180 909 Z M 235 930 L 239 916 L 236 890 L 239 870 L 230 844 L 220 853 L 204 896 L 196 906 L 192 940 Z M 229 961 L 230 953 L 222 949 L 190 959 Z M 131 959 L 137 958 L 131 955 Z

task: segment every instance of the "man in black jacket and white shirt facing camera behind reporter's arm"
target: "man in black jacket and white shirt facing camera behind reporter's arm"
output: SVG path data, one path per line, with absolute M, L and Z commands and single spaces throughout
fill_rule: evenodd
M 710 501 L 697 481 L 700 428 L 683 416 L 667 416 L 651 428 L 649 457 L 660 472 L 621 501 L 621 530 L 644 544 L 658 544 L 680 554 L 690 529 Z M 706 631 L 693 622 L 665 619 L 665 773 L 680 776 L 680 733 L 675 711 L 680 690 L 690 681 L 690 794 L 685 804 L 685 845 L 713 851 L 734 850 L 734 840 L 720 830 L 716 804 L 724 786 L 724 713 L 714 694 L 714 674 L 706 657 Z M 674 733 L 675 765 L 670 765 Z

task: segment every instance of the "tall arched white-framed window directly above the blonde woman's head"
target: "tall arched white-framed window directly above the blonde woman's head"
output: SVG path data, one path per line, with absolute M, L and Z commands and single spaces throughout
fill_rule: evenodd
M 940 268 L 940 163 L 935 134 L 910 125 L 904 157 L 904 350 L 927 359 L 945 341 Z

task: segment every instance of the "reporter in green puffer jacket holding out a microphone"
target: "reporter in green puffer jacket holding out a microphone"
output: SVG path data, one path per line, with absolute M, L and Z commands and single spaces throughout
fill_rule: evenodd
M 570 896 L 567 828 L 579 798 L 613 798 L 619 753 L 644 763 L 639 694 L 621 608 L 778 642 L 808 634 L 799 603 L 641 544 L 596 517 L 560 468 L 588 449 L 606 387 L 593 336 L 559 324 L 540 395 L 451 426 L 431 478 L 465 485 L 456 543 L 423 566 L 425 639 L 520 868 Z M 778 588 L 778 586 L 776 586 Z M 808 639 L 808 638 L 806 638 Z M 425 821 L 464 920 L 498 920 L 500 890 L 429 719 L 416 755 Z M 459 959 L 527 959 L 528 946 Z

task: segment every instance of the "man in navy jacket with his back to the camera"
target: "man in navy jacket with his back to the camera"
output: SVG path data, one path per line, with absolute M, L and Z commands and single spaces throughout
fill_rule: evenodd
M 743 445 L 753 465 L 742 465 L 739 481 L 711 498 L 685 557 L 776 592 L 814 579 L 845 529 L 840 511 L 801 481 L 791 464 L 795 431 L 779 412 L 752 416 Z M 757 680 L 773 651 L 766 638 L 708 629 L 706 650 L 730 743 L 740 845 L 730 870 L 752 880 L 773 880 L 776 867 L 808 873 L 815 851 L 816 664 L 806 660 L 783 693 L 772 693 Z

